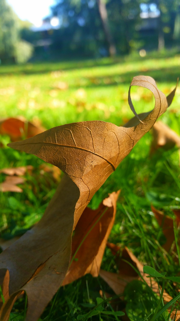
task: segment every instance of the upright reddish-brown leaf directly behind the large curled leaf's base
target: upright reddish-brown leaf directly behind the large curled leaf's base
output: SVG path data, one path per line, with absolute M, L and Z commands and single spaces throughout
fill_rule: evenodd
M 106 242 L 114 224 L 118 195 L 119 192 L 110 194 L 95 211 L 85 208 L 74 230 L 71 264 L 62 285 L 86 273 L 99 275 Z

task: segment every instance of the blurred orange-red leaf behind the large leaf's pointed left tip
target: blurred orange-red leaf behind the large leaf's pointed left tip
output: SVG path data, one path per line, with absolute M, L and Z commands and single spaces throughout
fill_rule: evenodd
M 45 131 L 43 127 L 37 127 L 21 118 L 6 118 L 0 120 L 0 134 L 9 135 L 12 142 L 22 139 L 24 136 L 29 138 Z

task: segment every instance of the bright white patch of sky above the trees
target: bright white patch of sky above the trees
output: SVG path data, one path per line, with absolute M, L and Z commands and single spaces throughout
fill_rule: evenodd
M 7 0 L 21 20 L 29 20 L 36 26 L 49 13 L 54 0 Z

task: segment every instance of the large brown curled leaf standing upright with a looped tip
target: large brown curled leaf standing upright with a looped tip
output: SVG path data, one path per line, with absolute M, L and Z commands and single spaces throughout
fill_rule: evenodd
M 59 167 L 67 175 L 42 220 L 0 255 L 0 268 L 10 272 L 10 301 L 21 288 L 34 299 L 28 301 L 28 321 L 37 320 L 63 281 L 70 260 L 72 230 L 86 205 L 169 105 L 151 77 L 133 78 L 130 88 L 136 85 L 153 92 L 155 107 L 144 117 L 135 117 L 126 127 L 102 121 L 73 123 L 9 144 Z M 135 113 L 130 89 L 128 101 Z M 17 253 L 21 253 L 18 262 Z M 10 301 L 4 304 L 0 320 L 7 320 L 4 315 L 8 317 L 6 308 Z

